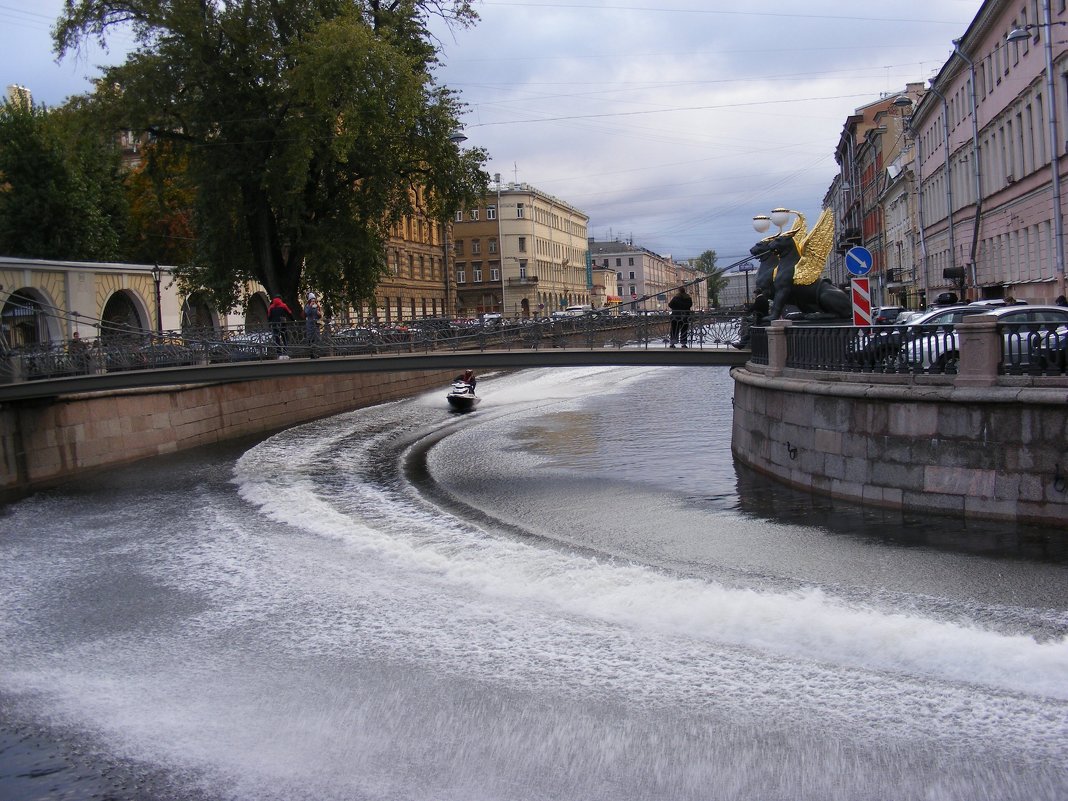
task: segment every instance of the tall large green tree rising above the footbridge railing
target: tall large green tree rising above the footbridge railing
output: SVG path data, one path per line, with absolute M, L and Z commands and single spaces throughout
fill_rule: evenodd
M 462 106 L 436 84 L 430 14 L 468 0 L 67 0 L 62 56 L 114 26 L 139 48 L 105 70 L 125 124 L 172 142 L 197 187 L 183 288 L 237 304 L 249 279 L 296 302 L 372 297 L 390 229 L 485 191 L 486 154 L 451 141 Z

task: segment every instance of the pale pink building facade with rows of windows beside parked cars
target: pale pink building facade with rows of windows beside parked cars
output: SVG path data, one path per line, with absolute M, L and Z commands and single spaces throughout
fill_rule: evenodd
M 985 2 L 912 109 L 914 273 L 928 302 L 942 292 L 1032 303 L 1065 293 L 1065 6 Z M 1026 35 L 1010 37 L 1017 30 Z

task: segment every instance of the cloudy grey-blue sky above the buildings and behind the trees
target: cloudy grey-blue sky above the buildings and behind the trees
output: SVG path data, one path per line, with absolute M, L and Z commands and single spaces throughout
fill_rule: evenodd
M 57 63 L 62 0 L 0 0 L 0 80 L 35 103 L 88 91 L 107 52 Z M 945 63 L 980 0 L 475 0 L 438 30 L 439 82 L 490 174 L 590 215 L 590 235 L 720 266 L 776 206 L 814 223 L 846 117 Z M 659 7 L 658 7 L 659 6 Z M 122 58 L 129 41 L 116 40 Z

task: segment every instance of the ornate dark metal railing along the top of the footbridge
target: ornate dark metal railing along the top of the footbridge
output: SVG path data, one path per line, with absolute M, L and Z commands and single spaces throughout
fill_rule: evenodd
M 396 326 L 342 326 L 311 332 L 302 321 L 276 328 L 106 330 L 95 341 L 44 343 L 7 349 L 0 382 L 157 367 L 262 361 L 279 358 L 399 354 L 431 350 L 540 347 L 659 347 L 666 343 L 665 313 L 587 313 L 522 320 L 421 319 Z M 688 344 L 727 347 L 738 341 L 740 317 L 732 312 L 691 316 Z

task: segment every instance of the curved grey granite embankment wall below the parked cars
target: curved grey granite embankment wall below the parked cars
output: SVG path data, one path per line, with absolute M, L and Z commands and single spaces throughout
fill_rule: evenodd
M 880 506 L 1068 525 L 1068 387 L 732 375 L 732 450 L 758 472 Z

